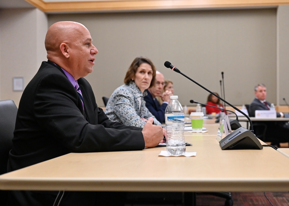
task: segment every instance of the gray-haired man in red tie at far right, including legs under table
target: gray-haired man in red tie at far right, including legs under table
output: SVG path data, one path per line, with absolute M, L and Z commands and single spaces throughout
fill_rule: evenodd
M 255 117 L 256 110 L 270 110 L 270 102 L 266 101 L 267 97 L 267 89 L 264 84 L 258 84 L 255 86 L 255 99 L 249 106 L 249 116 Z M 277 112 L 277 117 L 284 117 L 283 113 Z M 289 132 L 289 124 L 287 121 L 254 121 L 253 126 L 258 125 L 257 129 L 255 129 L 255 133 L 262 133 L 258 128 L 262 125 L 266 128 L 265 139 L 263 141 L 271 141 L 272 145 L 279 145 L 279 142 L 288 141 L 288 132 Z

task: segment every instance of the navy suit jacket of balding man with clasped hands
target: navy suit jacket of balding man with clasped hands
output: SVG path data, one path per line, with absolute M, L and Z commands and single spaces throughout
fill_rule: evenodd
M 165 121 L 164 112 L 168 104 L 163 103 L 162 105 L 160 105 L 159 102 L 157 102 L 156 104 L 149 90 L 146 89 L 146 91 L 147 91 L 147 95 L 144 97 L 144 100 L 146 102 L 145 106 L 149 109 L 149 111 L 153 114 L 153 116 L 155 116 L 155 118 L 160 123 L 163 123 Z

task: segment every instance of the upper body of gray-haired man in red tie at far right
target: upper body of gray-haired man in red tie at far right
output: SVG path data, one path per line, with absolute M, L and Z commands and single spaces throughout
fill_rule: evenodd
M 258 84 L 255 86 L 255 99 L 250 104 L 250 111 L 249 116 L 255 117 L 255 111 L 256 110 L 270 110 L 270 102 L 267 102 L 266 96 L 267 96 L 267 89 L 264 84 Z M 283 113 L 277 112 L 277 117 L 284 117 Z

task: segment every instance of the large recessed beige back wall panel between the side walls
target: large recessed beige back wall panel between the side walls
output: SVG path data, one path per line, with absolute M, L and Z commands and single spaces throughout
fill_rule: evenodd
M 268 86 L 276 103 L 276 9 L 138 12 L 49 15 L 79 21 L 90 30 L 95 46 L 95 71 L 87 76 L 98 104 L 123 84 L 125 72 L 138 55 L 152 59 L 165 78 L 174 82 L 181 104 L 205 102 L 208 92 L 164 67 L 170 61 L 198 83 L 220 91 L 224 72 L 225 97 L 248 104 L 256 83 Z

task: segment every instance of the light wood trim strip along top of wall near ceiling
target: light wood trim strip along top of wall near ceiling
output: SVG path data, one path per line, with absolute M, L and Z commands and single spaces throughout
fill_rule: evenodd
M 186 10 L 212 8 L 277 7 L 289 0 L 114 0 L 58 1 L 25 0 L 45 13 L 108 12 L 136 10 Z

